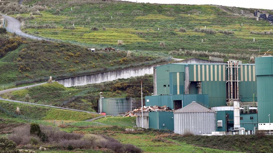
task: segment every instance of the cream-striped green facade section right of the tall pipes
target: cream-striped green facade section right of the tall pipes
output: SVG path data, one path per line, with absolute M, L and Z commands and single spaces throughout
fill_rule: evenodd
M 238 75 L 240 81 L 256 81 L 255 65 L 241 64 L 239 66 Z

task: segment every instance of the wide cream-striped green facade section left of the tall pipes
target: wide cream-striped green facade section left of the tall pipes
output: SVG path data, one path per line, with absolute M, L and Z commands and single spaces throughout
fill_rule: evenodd
M 190 81 L 225 81 L 225 65 L 190 65 Z

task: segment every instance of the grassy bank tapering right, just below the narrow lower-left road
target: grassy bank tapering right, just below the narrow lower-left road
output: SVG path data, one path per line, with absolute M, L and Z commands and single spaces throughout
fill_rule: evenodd
M 69 121 L 82 121 L 90 118 L 97 117 L 97 114 L 90 114 L 84 112 L 75 112 L 63 109 L 49 108 L 44 106 L 36 106 L 29 104 L 20 104 L 14 102 L 8 102 L 0 100 L 0 108 L 2 115 L 10 115 L 13 117 L 13 113 L 16 113 L 16 107 L 20 108 L 20 115 L 23 117 L 34 120 L 69 120 Z M 2 112 L 2 110 L 8 113 Z

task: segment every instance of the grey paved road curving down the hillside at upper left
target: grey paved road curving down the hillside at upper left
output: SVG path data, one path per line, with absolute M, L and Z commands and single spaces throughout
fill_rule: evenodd
M 22 32 L 21 31 L 21 23 L 19 20 L 15 19 L 11 16 L 7 16 L 7 15 L 3 15 L 3 17 L 7 20 L 5 28 L 7 29 L 8 32 L 11 32 L 11 33 L 15 32 L 19 36 L 27 37 L 27 38 L 31 38 L 31 39 L 46 40 L 46 39 L 32 36 L 32 35 L 26 34 L 25 32 Z

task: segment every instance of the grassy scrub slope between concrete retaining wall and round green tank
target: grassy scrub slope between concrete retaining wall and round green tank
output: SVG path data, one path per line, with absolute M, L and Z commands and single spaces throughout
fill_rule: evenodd
M 93 112 L 97 110 L 97 100 L 100 97 L 100 91 L 103 91 L 104 97 L 136 98 L 136 104 L 138 105 L 139 102 L 141 102 L 141 81 L 143 82 L 143 96 L 150 95 L 153 92 L 152 75 L 133 77 L 130 79 L 118 79 L 116 81 L 70 88 L 54 82 L 52 84 L 47 83 L 28 89 L 13 91 L 1 96 L 3 98 L 19 101 L 29 101 L 37 104 L 46 104 Z M 29 95 L 29 98 L 26 98 L 26 94 Z

